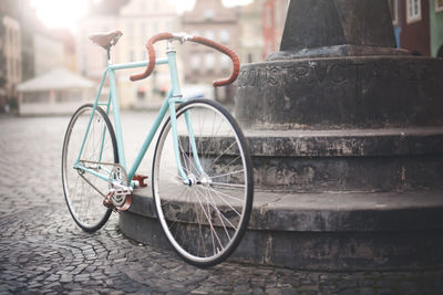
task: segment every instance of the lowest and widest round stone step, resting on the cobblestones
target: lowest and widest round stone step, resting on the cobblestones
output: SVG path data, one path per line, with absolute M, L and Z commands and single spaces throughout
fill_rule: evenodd
M 135 191 L 120 226 L 138 242 L 168 246 L 151 188 Z M 256 191 L 231 260 L 307 270 L 426 268 L 443 266 L 442 246 L 443 191 Z

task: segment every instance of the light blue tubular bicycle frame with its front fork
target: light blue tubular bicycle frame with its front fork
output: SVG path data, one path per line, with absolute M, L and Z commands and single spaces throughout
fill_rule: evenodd
M 121 122 L 120 122 L 120 105 L 119 105 L 119 97 L 117 97 L 117 91 L 116 91 L 116 84 L 115 84 L 115 71 L 116 70 L 124 70 L 124 69 L 134 69 L 134 67 L 143 67 L 148 64 L 148 62 L 135 62 L 135 63 L 124 63 L 124 64 L 112 64 L 111 62 L 106 66 L 105 72 L 103 73 L 102 81 L 100 83 L 99 92 L 96 94 L 94 105 L 93 105 L 93 112 L 90 117 L 90 122 L 84 135 L 84 139 L 79 152 L 79 157 L 75 162 L 75 168 L 83 170 L 87 173 L 91 173 L 95 177 L 99 177 L 105 181 L 110 181 L 110 175 L 104 175 L 94 171 L 93 169 L 89 169 L 83 166 L 81 156 L 83 154 L 84 145 L 87 138 L 87 134 L 91 127 L 91 123 L 94 116 L 94 113 L 96 112 L 96 107 L 99 105 L 105 105 L 106 106 L 106 114 L 110 114 L 111 110 L 111 104 L 113 106 L 113 112 L 114 112 L 114 129 L 115 129 L 115 135 L 116 135 L 116 141 L 117 141 L 117 150 L 119 150 L 119 161 L 120 165 L 127 171 L 127 178 L 130 180 L 133 179 L 140 164 L 142 162 L 143 157 L 146 154 L 147 148 L 150 147 L 152 139 L 155 136 L 155 133 L 157 131 L 159 124 L 162 123 L 163 118 L 165 117 L 167 110 L 169 109 L 169 117 L 171 117 L 171 125 L 172 125 L 172 131 L 173 131 L 173 144 L 174 144 L 174 154 L 175 154 L 175 160 L 177 164 L 177 168 L 179 171 L 181 177 L 183 178 L 183 182 L 189 185 L 189 178 L 185 173 L 181 159 L 179 159 L 179 151 L 178 151 L 178 134 L 177 134 L 177 125 L 176 125 L 176 108 L 175 105 L 177 103 L 184 103 L 187 101 L 187 98 L 183 98 L 182 93 L 181 93 L 181 87 L 179 87 L 179 82 L 178 82 L 178 75 L 177 75 L 177 65 L 176 65 L 176 55 L 175 51 L 173 49 L 169 49 L 166 53 L 166 59 L 157 59 L 155 61 L 155 64 L 167 64 L 169 67 L 169 74 L 171 74 L 171 82 L 172 82 L 172 87 L 167 94 L 166 99 L 164 101 L 157 117 L 155 118 L 150 133 L 147 134 L 135 160 L 134 164 L 132 165 L 131 169 L 127 171 L 126 170 L 126 160 L 125 160 L 125 152 L 124 152 L 124 146 L 123 146 L 123 135 L 122 135 L 122 127 L 121 127 Z M 102 93 L 102 88 L 105 82 L 106 76 L 109 76 L 110 80 L 110 96 L 107 98 L 107 103 L 99 103 L 99 98 Z M 185 114 L 185 120 L 187 124 L 187 130 L 189 135 L 189 144 L 192 151 L 194 154 L 194 161 L 197 167 L 197 169 L 203 173 L 203 167 L 200 165 L 200 161 L 197 157 L 197 147 L 195 143 L 195 137 L 194 133 L 192 129 L 192 124 L 190 124 L 190 116 L 186 112 Z M 102 147 L 101 150 L 103 149 L 103 144 L 104 144 L 104 135 L 105 135 L 105 129 L 103 130 L 103 138 L 102 138 Z M 99 156 L 99 159 L 96 159 L 97 162 L 101 161 L 101 155 Z M 131 186 L 134 186 L 134 182 L 131 181 Z

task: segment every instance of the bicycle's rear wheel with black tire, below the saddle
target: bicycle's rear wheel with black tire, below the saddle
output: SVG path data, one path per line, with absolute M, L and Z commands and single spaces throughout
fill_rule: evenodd
M 86 104 L 72 115 L 64 136 L 62 151 L 64 198 L 72 218 L 86 232 L 101 229 L 112 213 L 111 209 L 103 206 L 103 196 L 89 182 L 102 193 L 107 192 L 109 183 L 92 175 L 81 173 L 74 168 L 92 112 L 93 105 Z M 102 141 L 103 135 L 105 138 Z M 103 148 L 101 143 L 103 143 Z M 96 148 L 100 150 L 96 150 Z M 99 158 L 100 154 L 102 156 Z M 119 162 L 114 128 L 106 113 L 99 106 L 94 112 L 81 160 Z M 100 170 L 103 168 L 100 165 L 91 165 L 91 169 Z

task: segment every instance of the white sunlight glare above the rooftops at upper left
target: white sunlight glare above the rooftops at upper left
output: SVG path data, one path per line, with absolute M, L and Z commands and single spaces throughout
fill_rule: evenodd
M 31 0 L 31 6 L 45 27 L 75 31 L 76 21 L 87 12 L 87 0 Z

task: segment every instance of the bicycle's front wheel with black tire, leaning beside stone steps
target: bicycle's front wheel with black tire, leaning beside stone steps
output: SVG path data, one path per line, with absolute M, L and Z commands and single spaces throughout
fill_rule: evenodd
M 246 231 L 253 166 L 245 136 L 219 104 L 189 101 L 176 113 L 178 157 L 190 182 L 177 169 L 169 118 L 154 154 L 154 202 L 172 246 L 187 262 L 207 267 L 226 260 Z

